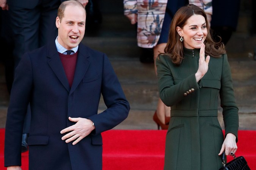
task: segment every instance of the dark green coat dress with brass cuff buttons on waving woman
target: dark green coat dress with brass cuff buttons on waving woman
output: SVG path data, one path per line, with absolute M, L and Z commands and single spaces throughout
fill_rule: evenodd
M 199 50 L 184 48 L 180 65 L 165 55 L 156 60 L 159 95 L 171 106 L 164 170 L 218 170 L 222 166 L 218 153 L 224 136 L 218 122 L 218 97 L 225 135 L 237 137 L 238 108 L 227 56 L 210 57 L 208 71 L 197 83 Z

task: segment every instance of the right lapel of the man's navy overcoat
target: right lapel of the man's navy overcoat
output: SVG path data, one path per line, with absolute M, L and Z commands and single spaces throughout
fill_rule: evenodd
M 75 75 L 70 93 L 72 93 L 82 81 L 83 76 L 85 75 L 88 66 L 90 65 L 88 57 L 90 57 L 88 50 L 84 45 L 80 43 L 78 48 L 77 64 L 75 66 Z

